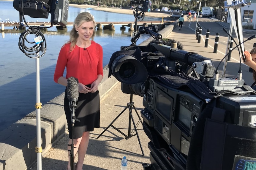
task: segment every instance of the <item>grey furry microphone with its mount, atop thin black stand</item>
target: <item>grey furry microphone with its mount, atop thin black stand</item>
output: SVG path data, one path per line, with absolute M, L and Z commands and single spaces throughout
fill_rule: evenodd
M 77 100 L 78 100 L 78 79 L 75 77 L 69 77 L 67 79 L 67 98 L 69 100 L 69 108 L 72 112 L 71 122 L 75 123 L 75 109 L 77 108 Z M 78 119 L 76 119 L 78 120 Z

